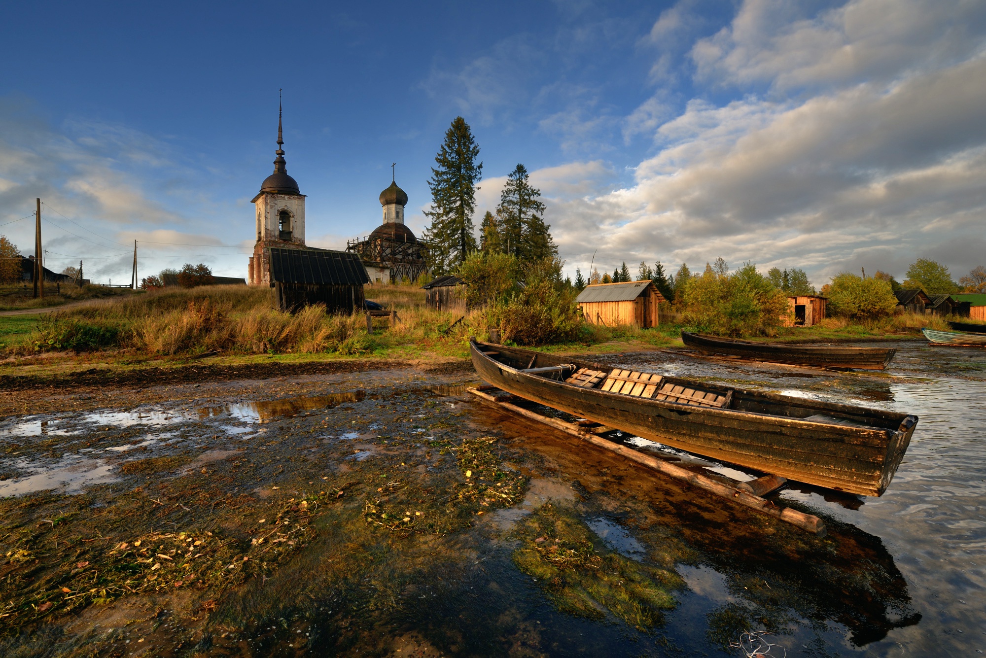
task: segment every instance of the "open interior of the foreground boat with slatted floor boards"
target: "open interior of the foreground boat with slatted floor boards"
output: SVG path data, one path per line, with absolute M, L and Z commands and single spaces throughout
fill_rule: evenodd
M 487 358 L 529 375 L 629 397 L 688 407 L 706 407 L 795 418 L 852 428 L 898 429 L 904 416 L 811 399 L 742 391 L 705 382 L 669 377 L 601 363 L 565 362 L 564 358 L 499 345 L 476 344 Z

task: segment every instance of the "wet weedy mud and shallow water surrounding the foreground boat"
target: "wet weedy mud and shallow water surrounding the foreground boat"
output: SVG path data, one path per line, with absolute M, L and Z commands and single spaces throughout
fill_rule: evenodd
M 986 650 L 986 355 L 604 359 L 921 422 L 880 498 L 772 494 L 819 539 L 481 404 L 461 363 L 8 389 L 0 654 L 740 655 L 745 631 L 778 655 Z

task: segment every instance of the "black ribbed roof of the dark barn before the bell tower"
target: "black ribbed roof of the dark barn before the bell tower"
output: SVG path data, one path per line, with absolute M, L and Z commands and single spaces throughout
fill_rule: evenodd
M 264 249 L 270 262 L 270 281 L 282 284 L 362 286 L 370 283 L 355 253 L 328 249 Z

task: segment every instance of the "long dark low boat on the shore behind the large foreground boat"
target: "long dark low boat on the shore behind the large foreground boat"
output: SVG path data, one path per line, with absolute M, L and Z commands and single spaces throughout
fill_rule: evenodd
M 821 367 L 858 367 L 882 370 L 896 354 L 895 348 L 851 348 L 844 346 L 783 345 L 754 343 L 733 338 L 681 332 L 685 347 L 710 354 L 743 357 L 757 361 L 818 365 Z

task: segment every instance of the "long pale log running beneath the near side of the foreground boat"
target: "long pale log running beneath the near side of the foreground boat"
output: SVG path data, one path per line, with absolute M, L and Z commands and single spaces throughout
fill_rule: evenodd
M 669 464 L 668 462 L 657 459 L 656 457 L 645 455 L 644 453 L 638 452 L 632 448 L 613 443 L 612 441 L 607 441 L 606 439 L 600 438 L 593 433 L 587 433 L 584 429 L 571 423 L 566 423 L 559 419 L 549 418 L 547 416 L 541 416 L 540 414 L 528 411 L 527 409 L 518 407 L 517 405 L 512 405 L 508 402 L 500 402 L 492 395 L 488 395 L 474 388 L 467 390 L 482 400 L 498 403 L 497 407 L 500 409 L 507 409 L 532 421 L 537 421 L 538 423 L 543 423 L 544 425 L 551 426 L 552 428 L 560 429 L 600 448 L 609 450 L 610 452 L 615 452 L 616 454 L 635 461 L 638 464 L 642 464 L 648 468 L 654 469 L 655 471 L 659 471 L 670 478 L 681 480 L 692 485 L 693 487 L 709 492 L 710 494 L 716 494 L 724 498 L 731 498 L 735 502 L 739 502 L 741 505 L 755 509 L 758 512 L 779 518 L 782 521 L 787 521 L 788 523 L 817 535 L 818 537 L 824 537 L 827 533 L 824 522 L 817 516 L 806 514 L 805 512 L 791 509 L 790 507 L 779 507 L 770 500 L 766 500 L 757 495 L 749 494 L 748 492 L 744 492 L 740 489 L 730 487 L 729 485 L 725 485 L 703 475 L 692 473 L 691 471 L 683 469 L 679 466 L 674 466 L 673 464 Z

